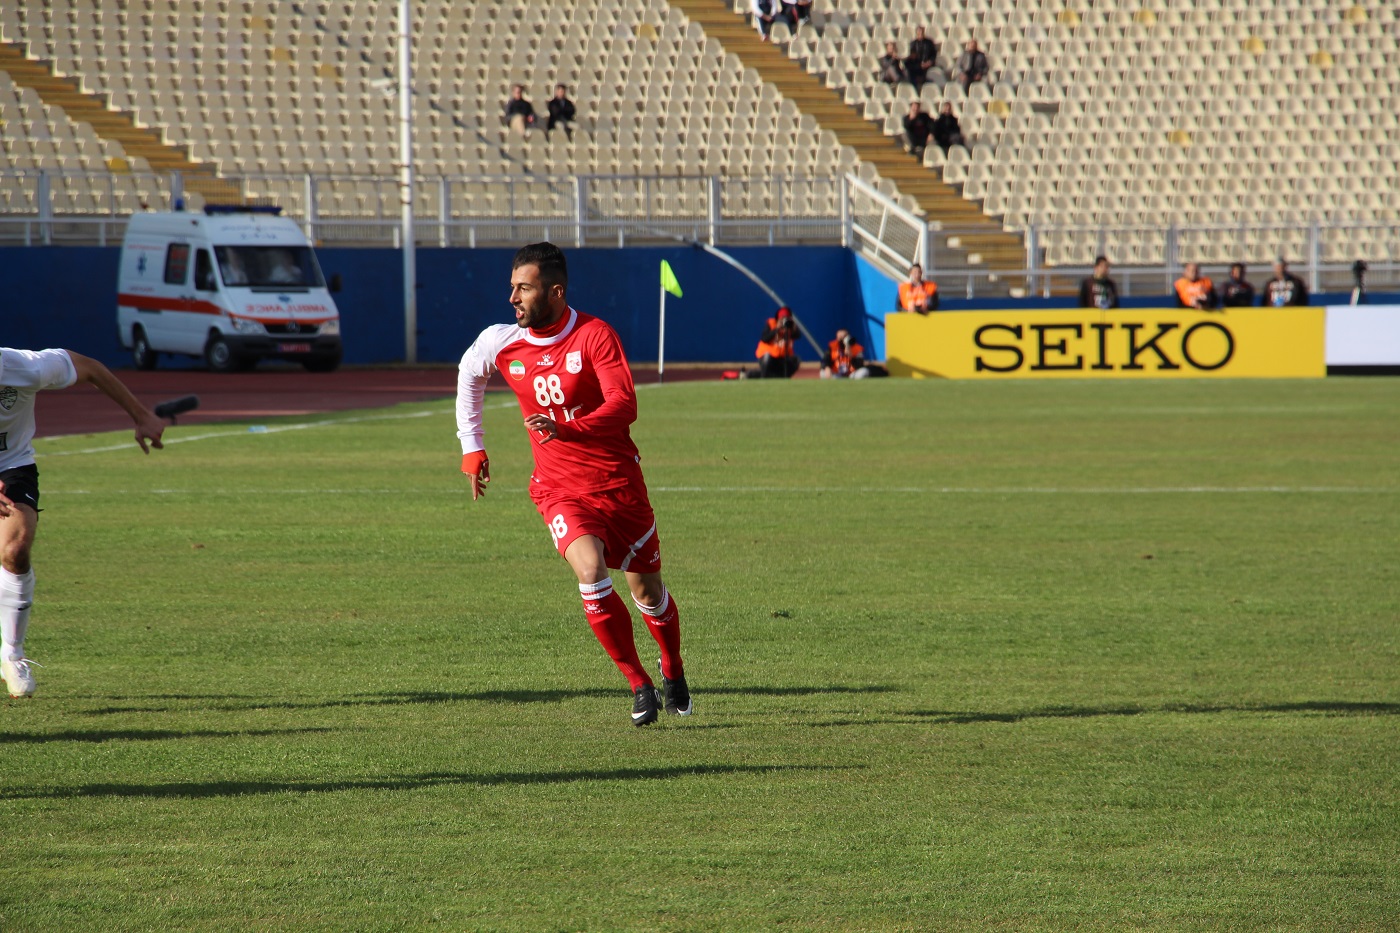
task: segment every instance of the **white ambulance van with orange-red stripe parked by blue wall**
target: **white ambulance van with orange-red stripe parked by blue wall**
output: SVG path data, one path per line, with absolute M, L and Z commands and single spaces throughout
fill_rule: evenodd
M 265 357 L 312 373 L 340 366 L 340 312 L 316 254 L 280 207 L 207 206 L 133 214 L 122 241 L 116 326 L 139 370 L 161 353 L 216 373 Z

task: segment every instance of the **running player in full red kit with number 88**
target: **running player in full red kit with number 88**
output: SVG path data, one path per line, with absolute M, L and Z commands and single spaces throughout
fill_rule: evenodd
M 486 381 L 500 370 L 525 415 L 535 472 L 531 499 L 584 600 L 584 618 L 627 678 L 631 721 L 657 721 L 658 705 L 689 716 L 680 661 L 680 614 L 661 581 L 657 520 L 629 426 L 637 389 L 617 333 L 568 307 L 564 254 L 547 242 L 524 247 L 511 269 L 515 324 L 482 331 L 458 370 L 456 426 L 472 499 L 486 492 L 490 466 L 482 433 Z M 637 657 L 631 614 L 613 591 L 609 567 L 623 572 L 633 602 L 661 647 L 664 698 Z

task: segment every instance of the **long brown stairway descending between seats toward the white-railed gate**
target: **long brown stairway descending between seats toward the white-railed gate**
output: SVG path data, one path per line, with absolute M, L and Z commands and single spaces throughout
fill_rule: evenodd
M 808 74 L 797 62 L 770 42 L 763 42 L 748 17 L 732 11 L 728 0 L 669 0 L 699 24 L 706 35 L 724 45 L 759 76 L 811 113 L 822 129 L 832 130 L 844 144 L 871 164 L 881 178 L 895 182 L 900 193 L 918 203 L 930 220 L 949 228 L 945 245 L 960 252 L 976 268 L 1021 269 L 1026 251 L 1018 234 L 981 213 L 981 207 L 942 181 L 938 172 L 909 156 L 900 143 L 885 136 L 883 127 L 867 120 L 841 95 Z M 956 230 L 956 233 L 955 233 Z

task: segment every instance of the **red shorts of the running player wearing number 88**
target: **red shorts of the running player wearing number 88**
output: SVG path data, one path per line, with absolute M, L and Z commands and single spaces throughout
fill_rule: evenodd
M 645 493 L 633 486 L 596 493 L 550 495 L 535 499 L 559 556 L 582 535 L 603 542 L 603 559 L 610 569 L 627 573 L 661 570 L 661 541 L 657 516 Z

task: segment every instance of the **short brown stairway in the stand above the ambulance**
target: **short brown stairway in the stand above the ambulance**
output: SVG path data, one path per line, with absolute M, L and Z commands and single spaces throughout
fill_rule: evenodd
M 218 178 L 211 165 L 192 161 L 183 146 L 172 146 L 158 130 L 139 126 L 132 113 L 108 108 L 106 98 L 83 91 L 77 78 L 55 74 L 52 62 L 28 57 L 24 45 L 0 42 L 0 71 L 17 85 L 32 88 L 69 119 L 87 123 L 101 139 L 120 143 L 129 158 L 144 158 L 151 171 L 181 172 L 185 191 L 204 200 L 242 200 L 238 188 Z

